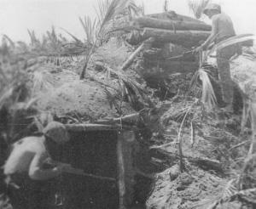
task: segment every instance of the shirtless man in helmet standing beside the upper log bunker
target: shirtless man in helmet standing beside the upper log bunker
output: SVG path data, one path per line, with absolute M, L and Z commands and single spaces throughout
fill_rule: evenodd
M 204 42 L 201 47 L 196 48 L 196 51 L 206 50 L 207 47 L 214 42 L 224 41 L 230 37 L 235 37 L 236 32 L 230 17 L 221 13 L 221 8 L 216 3 L 210 3 L 203 10 L 204 14 L 212 20 L 212 33 L 207 41 Z M 233 86 L 230 77 L 230 58 L 237 53 L 237 45 L 230 45 L 225 48 L 221 48 L 217 51 L 217 65 L 218 76 L 220 78 L 220 84 L 222 88 L 223 99 L 225 103 L 224 110 L 233 112 Z

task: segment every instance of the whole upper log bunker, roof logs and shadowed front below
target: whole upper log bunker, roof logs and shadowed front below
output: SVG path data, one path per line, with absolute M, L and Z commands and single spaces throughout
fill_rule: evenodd
M 134 70 L 143 76 L 149 87 L 160 89 L 163 98 L 169 91 L 166 85 L 172 82 L 172 75 L 187 77 L 198 70 L 199 62 L 191 48 L 206 41 L 212 30 L 211 25 L 173 11 L 145 15 L 131 21 L 130 25 L 136 30 L 131 31 L 126 41 L 139 46 L 135 52 L 140 52 Z M 150 49 L 145 49 L 143 42 L 149 38 L 154 41 Z M 134 54 L 131 54 L 132 60 L 136 60 Z M 129 60 L 121 69 L 125 70 L 129 66 L 126 64 L 131 64 Z

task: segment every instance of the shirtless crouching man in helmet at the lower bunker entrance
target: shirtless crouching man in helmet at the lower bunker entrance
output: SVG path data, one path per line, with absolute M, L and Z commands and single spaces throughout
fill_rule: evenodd
M 45 167 L 49 161 L 49 144 L 59 145 L 69 140 L 66 128 L 52 121 L 41 136 L 26 137 L 13 144 L 3 172 L 9 184 L 9 198 L 14 208 L 53 208 L 55 178 L 64 172 L 67 164 Z

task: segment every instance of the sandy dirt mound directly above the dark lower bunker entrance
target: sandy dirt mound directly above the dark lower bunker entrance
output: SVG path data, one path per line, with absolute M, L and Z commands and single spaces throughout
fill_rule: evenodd
M 86 71 L 84 80 L 79 80 L 79 71 L 84 59 L 67 65 L 41 65 L 36 74 L 36 91 L 38 109 L 55 113 L 58 116 L 79 117 L 79 121 L 93 121 L 104 117 L 119 116 L 114 107 L 111 108 L 106 85 L 119 88 L 118 80 L 108 75 L 108 71 L 96 71 L 99 62 L 116 68 L 128 57 L 128 48 L 118 39 L 112 39 L 98 48 Z M 105 85 L 106 84 L 106 85 Z M 113 92 L 112 88 L 108 91 Z M 113 92 L 114 94 L 114 92 Z M 123 114 L 134 112 L 130 104 L 122 103 Z

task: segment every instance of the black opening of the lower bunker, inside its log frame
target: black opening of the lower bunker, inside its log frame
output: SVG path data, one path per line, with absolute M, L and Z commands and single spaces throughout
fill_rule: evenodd
M 71 140 L 60 153 L 61 161 L 84 172 L 118 178 L 115 131 L 70 132 Z M 119 208 L 117 182 L 75 174 L 63 175 L 62 193 L 65 208 Z

